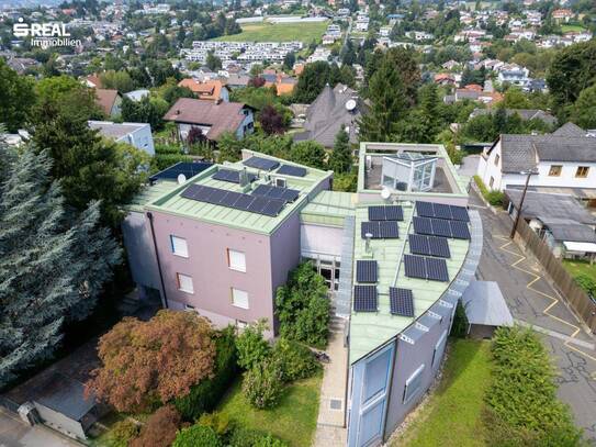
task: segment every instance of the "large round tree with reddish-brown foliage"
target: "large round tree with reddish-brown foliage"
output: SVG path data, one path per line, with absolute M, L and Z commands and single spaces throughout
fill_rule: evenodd
M 100 339 L 103 364 L 88 392 L 119 411 L 142 411 L 189 393 L 212 377 L 214 331 L 192 312 L 159 311 L 148 322 L 125 317 Z

